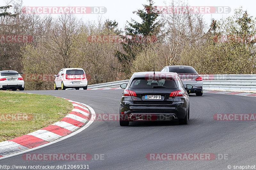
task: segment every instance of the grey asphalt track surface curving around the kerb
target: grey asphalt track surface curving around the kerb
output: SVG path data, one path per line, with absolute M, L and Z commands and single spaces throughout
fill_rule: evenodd
M 119 113 L 121 90 L 24 91 L 64 97 L 90 105 L 97 114 Z M 89 165 L 89 169 L 228 169 L 228 165 L 256 165 L 256 122 L 215 121 L 217 113 L 255 114 L 256 98 L 204 93 L 190 95 L 188 125 L 173 122 L 94 121 L 84 131 L 27 153 L 104 154 L 104 160 L 28 161 L 21 155 L 0 165 Z M 215 160 L 148 160 L 147 153 L 228 154 Z

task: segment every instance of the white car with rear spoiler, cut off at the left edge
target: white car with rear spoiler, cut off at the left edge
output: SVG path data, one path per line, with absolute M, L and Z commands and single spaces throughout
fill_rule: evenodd
M 20 74 L 22 73 L 13 70 L 0 71 L 0 90 L 24 90 L 24 81 Z

